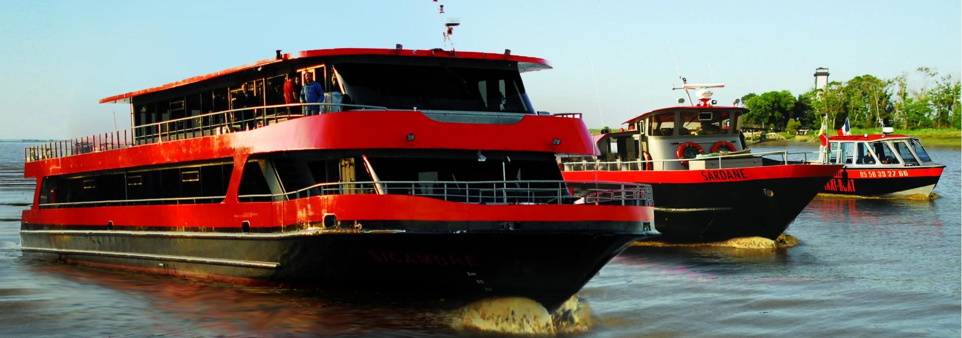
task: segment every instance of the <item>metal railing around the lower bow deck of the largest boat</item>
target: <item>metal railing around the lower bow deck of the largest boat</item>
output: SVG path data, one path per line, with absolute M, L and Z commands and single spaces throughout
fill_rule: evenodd
M 569 183 L 585 183 L 577 195 Z M 601 188 L 603 186 L 603 188 Z M 283 194 L 238 196 L 241 202 L 301 199 L 321 195 L 420 196 L 483 205 L 651 205 L 651 186 L 623 182 L 570 181 L 352 181 L 317 183 Z

